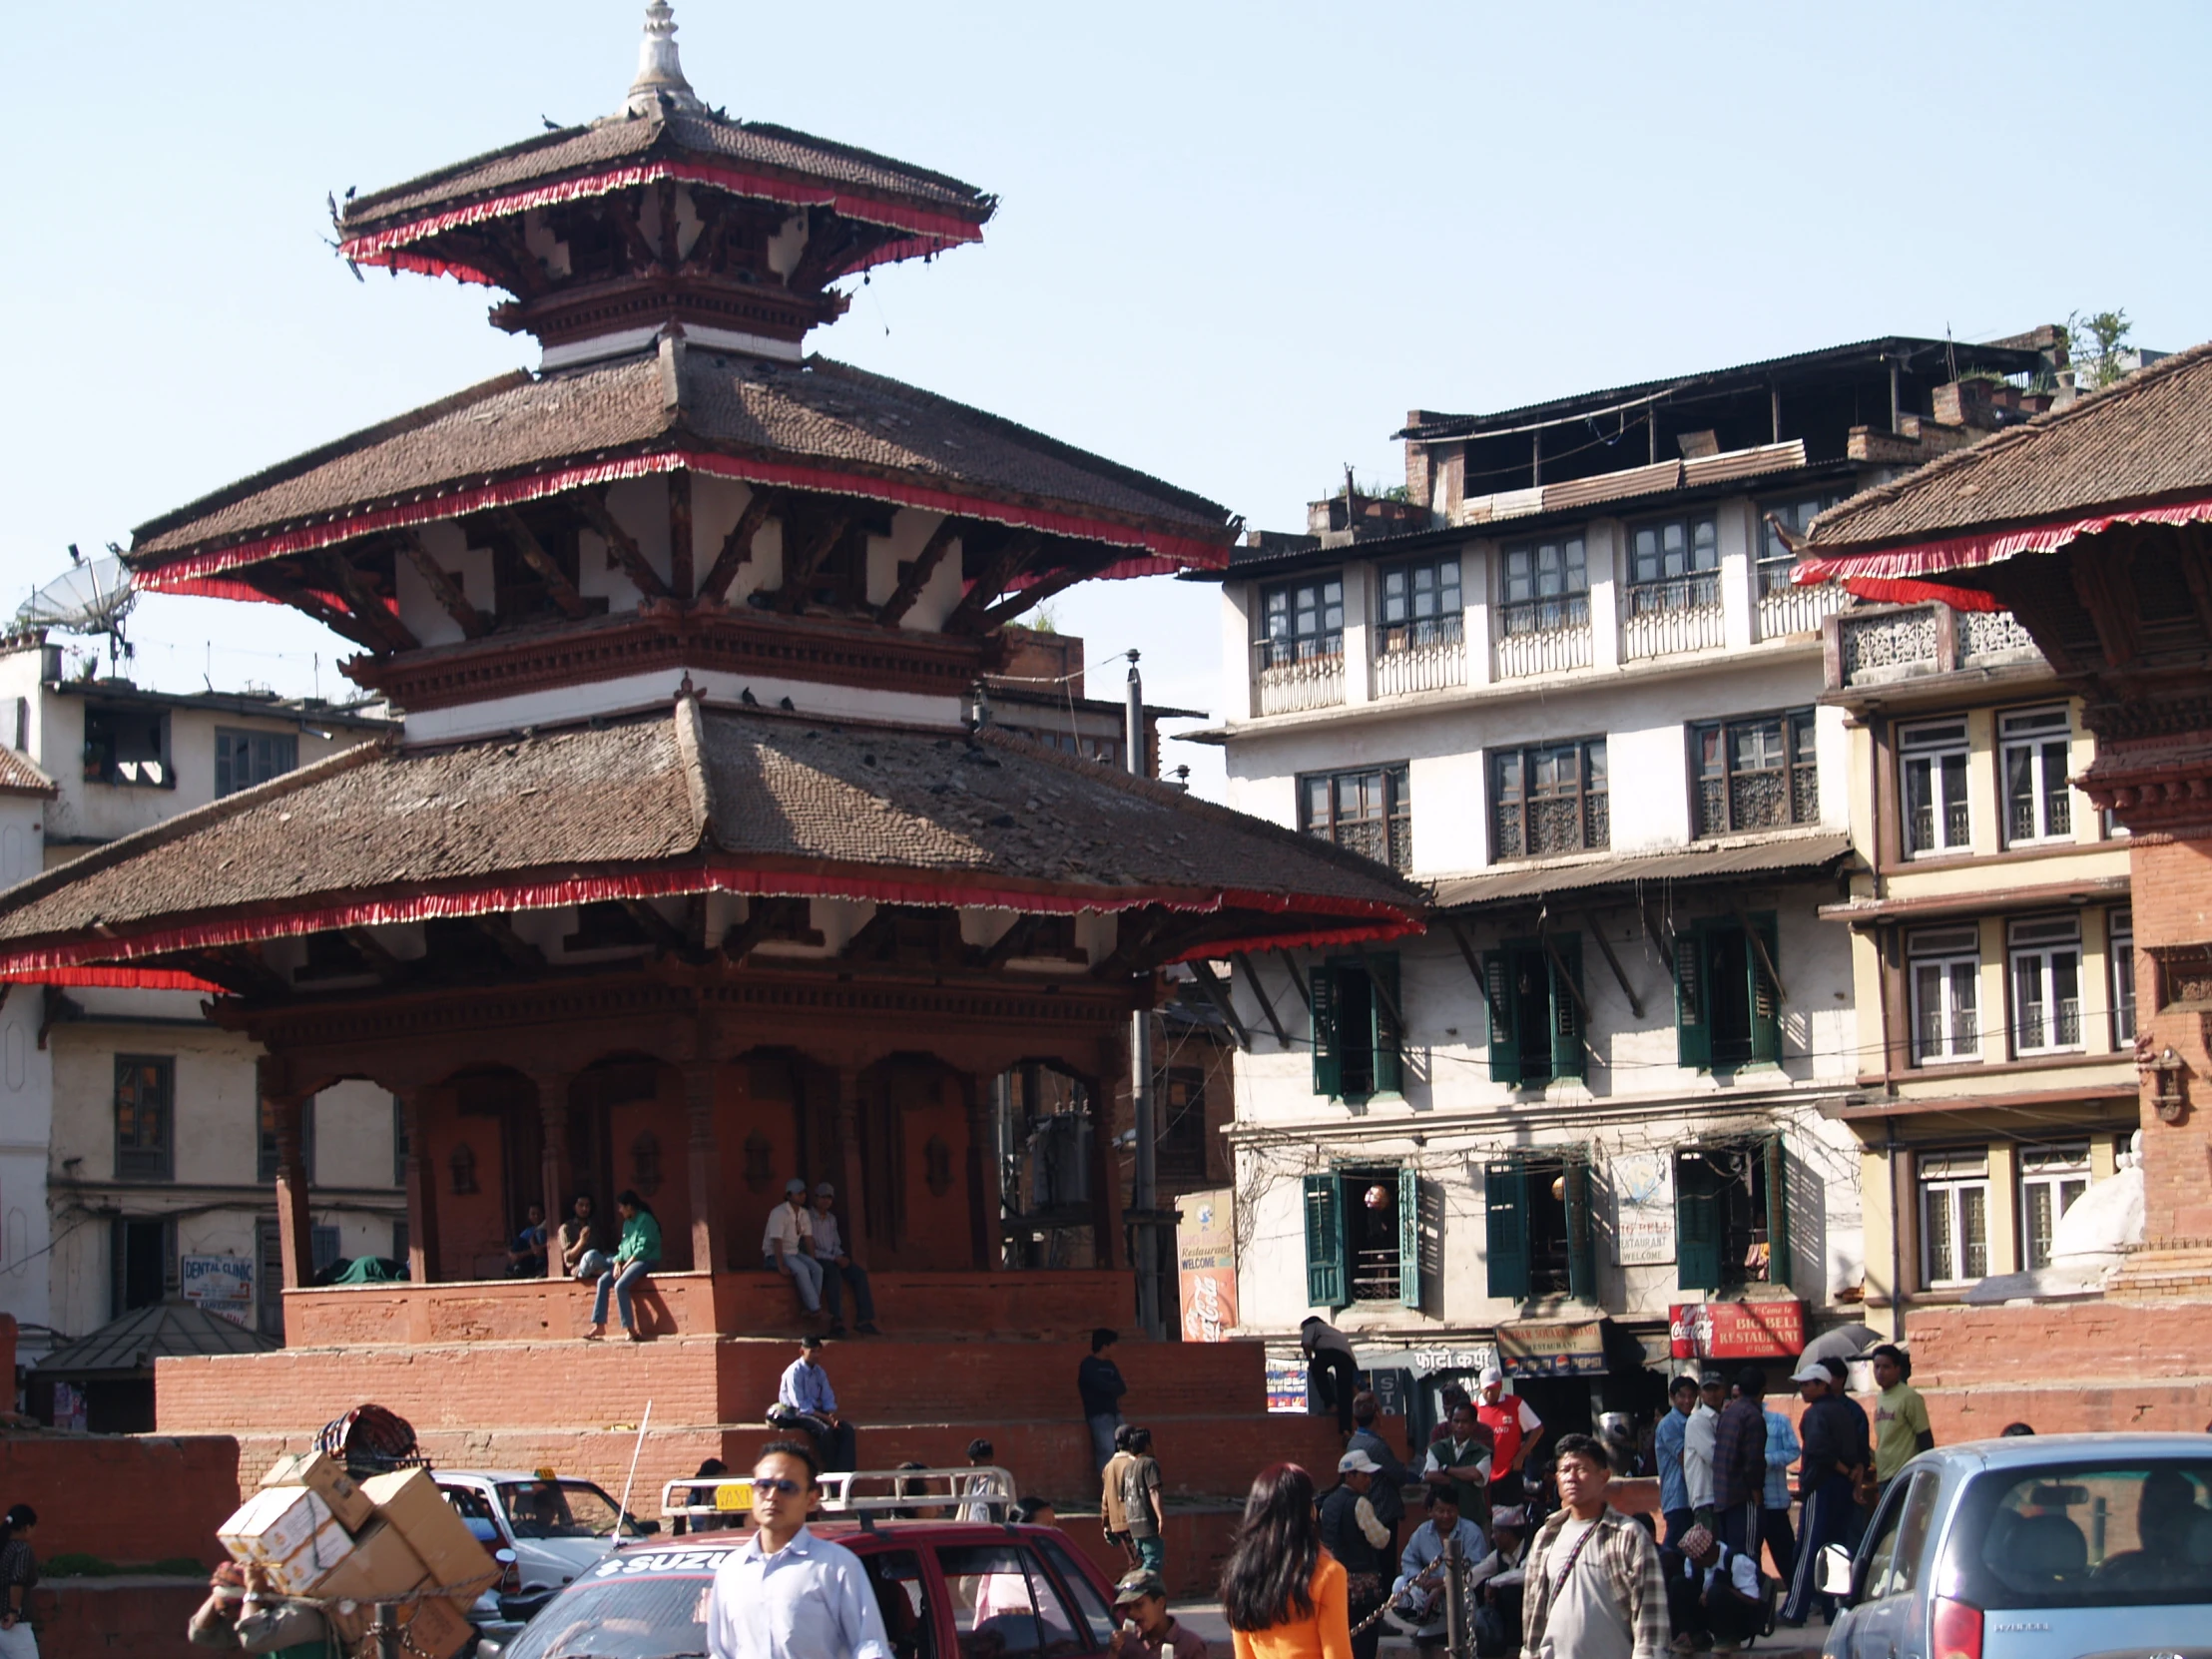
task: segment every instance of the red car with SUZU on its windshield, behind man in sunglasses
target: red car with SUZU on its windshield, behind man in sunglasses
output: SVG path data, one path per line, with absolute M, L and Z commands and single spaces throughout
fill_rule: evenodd
M 818 1517 L 810 1528 L 860 1557 L 896 1659 L 1079 1659 L 1113 1639 L 1113 1586 L 1057 1526 Z M 714 1568 L 748 1537 L 624 1544 L 555 1595 L 502 1659 L 703 1655 Z

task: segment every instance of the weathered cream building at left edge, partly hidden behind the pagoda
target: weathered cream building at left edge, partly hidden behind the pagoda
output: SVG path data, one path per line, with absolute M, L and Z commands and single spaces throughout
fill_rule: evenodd
M 97 858 L 385 728 L 312 699 L 64 679 L 42 633 L 0 639 L 0 885 Z M 206 971 L 263 969 L 250 951 L 210 949 Z M 164 984 L 173 971 L 144 984 L 55 978 L 0 1002 L 0 1312 L 22 1327 L 20 1363 L 204 1287 L 228 1292 L 210 1305 L 281 1334 L 265 1270 L 274 1135 L 254 1044 L 206 1020 L 204 991 Z M 316 1252 L 405 1256 L 392 1097 L 347 1084 L 310 1124 Z

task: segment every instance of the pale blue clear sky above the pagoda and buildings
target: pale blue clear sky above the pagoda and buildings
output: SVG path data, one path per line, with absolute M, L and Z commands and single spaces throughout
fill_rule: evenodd
M 374 274 L 325 192 L 613 111 L 633 0 L 4 7 L 0 595 L 535 345 Z M 2212 336 L 2203 4 L 677 0 L 692 84 L 1002 197 L 814 349 L 1301 529 L 1480 411 L 1871 334 L 2126 307 Z M 1064 595 L 1093 661 L 1217 701 L 1219 595 Z M 279 606 L 148 599 L 157 686 L 347 690 Z M 1110 681 L 1110 684 L 1108 684 Z M 1119 672 L 1097 690 L 1115 695 Z M 1170 748 L 1199 776 L 1210 750 Z M 1208 765 L 1212 761 L 1212 765 Z

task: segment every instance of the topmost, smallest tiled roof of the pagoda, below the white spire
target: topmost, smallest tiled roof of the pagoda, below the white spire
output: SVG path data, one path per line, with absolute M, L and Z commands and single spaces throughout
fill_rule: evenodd
M 975 186 L 894 161 L 887 155 L 794 133 L 787 126 L 677 111 L 661 117 L 626 119 L 617 115 L 591 126 L 568 126 L 354 197 L 345 204 L 341 228 L 343 234 L 358 237 L 436 208 L 504 195 L 518 186 L 544 184 L 575 173 L 624 166 L 648 155 L 697 157 L 825 179 L 849 190 L 953 208 L 973 217 L 975 223 L 989 219 L 993 208 L 993 199 Z

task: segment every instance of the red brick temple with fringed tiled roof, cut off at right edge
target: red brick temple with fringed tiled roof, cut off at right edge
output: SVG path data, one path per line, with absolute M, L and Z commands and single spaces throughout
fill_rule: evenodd
M 2037 1413 L 2199 1429 L 2212 1405 L 2192 1380 L 2212 1371 L 2205 1323 L 2181 1307 L 2212 1301 L 2205 434 L 2199 345 L 1823 515 L 1803 544 L 1798 582 L 2011 611 L 2095 737 L 2073 783 L 2128 832 L 2143 1245 L 2093 1305 L 1909 1316 L 1953 1433 Z

